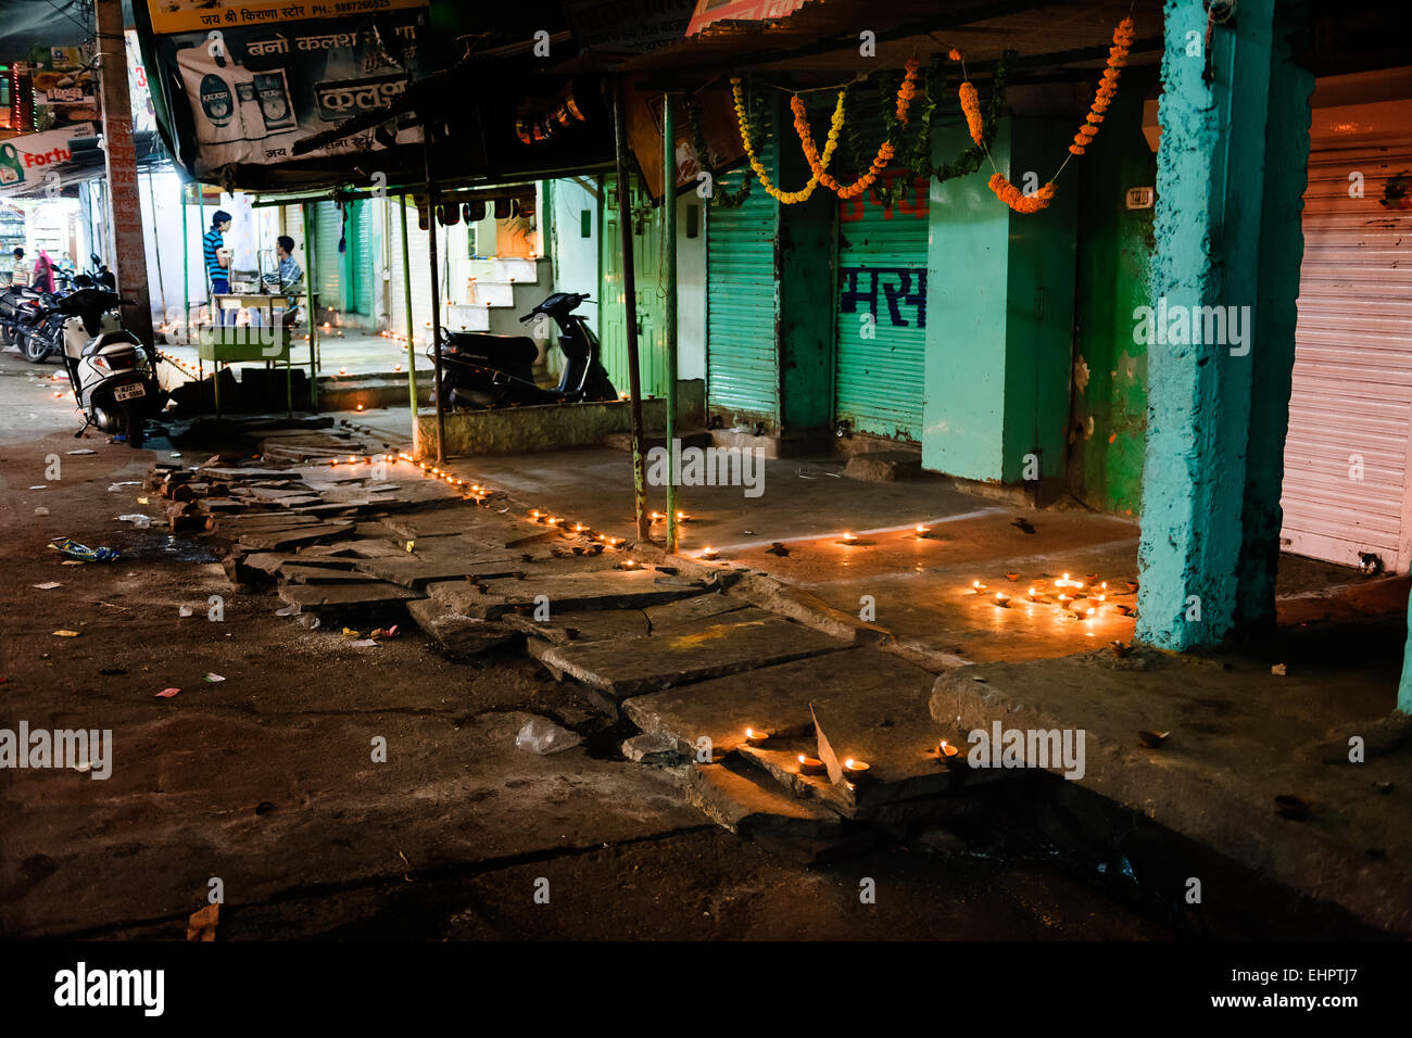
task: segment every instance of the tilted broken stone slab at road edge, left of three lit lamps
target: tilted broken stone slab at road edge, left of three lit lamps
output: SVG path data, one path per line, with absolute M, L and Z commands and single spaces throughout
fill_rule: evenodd
M 795 839 L 833 839 L 839 815 L 791 797 L 746 764 L 693 764 L 686 772 L 686 801 L 717 825 L 741 836 L 771 833 Z

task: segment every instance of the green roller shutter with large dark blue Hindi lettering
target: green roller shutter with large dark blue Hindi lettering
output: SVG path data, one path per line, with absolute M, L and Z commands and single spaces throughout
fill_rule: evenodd
M 866 140 L 881 140 L 881 120 Z M 911 178 L 905 169 L 884 174 Z M 867 191 L 839 203 L 834 417 L 856 432 L 922 438 L 928 184 L 892 208 Z M 871 329 L 863 315 L 871 315 Z M 871 330 L 874 338 L 864 338 Z

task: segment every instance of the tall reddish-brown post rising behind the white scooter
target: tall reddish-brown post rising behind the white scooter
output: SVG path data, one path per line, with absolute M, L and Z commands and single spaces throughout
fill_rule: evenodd
M 113 274 L 117 292 L 133 305 L 126 325 L 141 342 L 152 343 L 152 301 L 147 284 L 143 241 L 143 202 L 137 188 L 137 150 L 133 147 L 133 103 L 127 96 L 127 42 L 123 0 L 97 0 L 99 93 L 103 100 L 103 153 L 113 226 Z

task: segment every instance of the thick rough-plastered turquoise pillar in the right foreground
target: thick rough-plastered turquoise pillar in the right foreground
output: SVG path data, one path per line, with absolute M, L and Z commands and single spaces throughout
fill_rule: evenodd
M 1274 620 L 1312 73 L 1308 11 L 1245 0 L 1203 49 L 1165 8 L 1138 637 L 1186 650 Z M 1120 88 L 1121 89 L 1121 88 Z

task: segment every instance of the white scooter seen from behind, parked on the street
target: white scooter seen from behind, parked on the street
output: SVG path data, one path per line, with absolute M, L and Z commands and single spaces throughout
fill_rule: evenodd
M 58 322 L 56 345 L 73 400 L 83 411 L 83 428 L 73 434 L 75 439 L 96 425 L 114 439 L 141 446 L 144 424 L 162 407 L 152 354 L 114 314 L 131 305 L 116 292 L 80 288 L 47 308 Z

